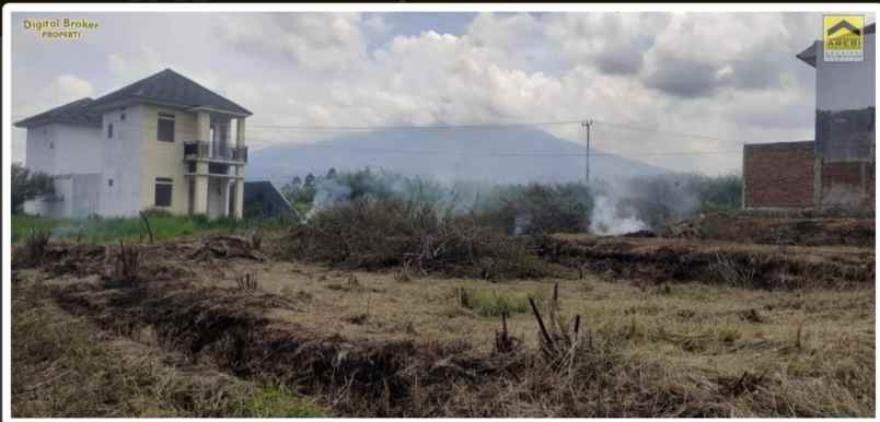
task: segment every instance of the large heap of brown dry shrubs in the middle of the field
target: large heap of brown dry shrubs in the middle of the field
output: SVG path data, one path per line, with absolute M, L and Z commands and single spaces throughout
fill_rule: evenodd
M 547 274 L 531 245 L 430 203 L 360 198 L 317 212 L 286 238 L 289 256 L 377 270 L 405 267 L 487 280 Z

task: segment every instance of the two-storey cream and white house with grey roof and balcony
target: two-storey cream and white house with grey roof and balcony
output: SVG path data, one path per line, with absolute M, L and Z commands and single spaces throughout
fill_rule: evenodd
M 96 99 L 18 121 L 25 165 L 54 176 L 56 194 L 25 212 L 134 216 L 146 209 L 241 218 L 252 113 L 163 70 Z

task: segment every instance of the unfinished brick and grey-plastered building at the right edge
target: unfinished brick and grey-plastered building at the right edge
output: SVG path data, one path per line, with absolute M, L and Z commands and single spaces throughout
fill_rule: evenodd
M 815 68 L 815 138 L 743 149 L 743 206 L 873 210 L 876 25 L 861 61 L 826 61 L 814 42 L 797 58 Z

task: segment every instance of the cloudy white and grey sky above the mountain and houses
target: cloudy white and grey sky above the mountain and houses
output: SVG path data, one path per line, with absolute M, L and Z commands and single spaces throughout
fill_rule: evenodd
M 23 28 L 56 16 L 100 27 L 67 42 Z M 592 118 L 603 151 L 730 173 L 742 142 L 812 139 L 813 69 L 795 55 L 820 25 L 818 13 L 22 12 L 12 114 L 172 68 L 251 109 L 252 148 L 332 136 L 270 126 Z M 578 125 L 546 129 L 583 138 Z M 13 160 L 23 145 L 13 129 Z

